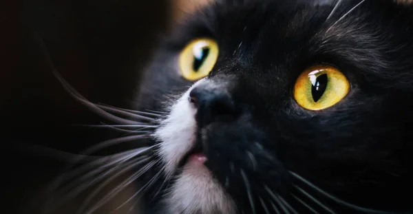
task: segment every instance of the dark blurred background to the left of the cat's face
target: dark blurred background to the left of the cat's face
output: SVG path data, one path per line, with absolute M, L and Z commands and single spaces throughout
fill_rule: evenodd
M 0 6 L 3 213 L 41 213 L 64 156 L 116 135 L 74 126 L 101 118 L 64 91 L 47 63 L 94 103 L 128 107 L 159 35 L 202 0 L 14 0 Z M 40 39 L 40 40 L 39 40 Z M 43 41 L 47 49 L 41 49 Z M 27 144 L 36 145 L 28 147 Z M 55 150 L 47 150 L 47 148 Z M 54 154 L 54 155 L 53 155 Z M 8 202 L 10 200 L 10 202 Z M 72 202 L 58 213 L 73 213 Z

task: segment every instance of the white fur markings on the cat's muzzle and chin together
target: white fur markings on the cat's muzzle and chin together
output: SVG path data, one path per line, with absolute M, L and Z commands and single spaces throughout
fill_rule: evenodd
M 172 106 L 171 113 L 154 133 L 160 141 L 158 154 L 169 178 L 178 169 L 180 160 L 193 148 L 196 138 L 196 109 L 189 103 L 189 92 L 206 82 L 202 79 L 193 84 Z M 171 214 L 232 214 L 235 211 L 231 198 L 204 166 L 185 165 L 165 196 L 167 210 Z

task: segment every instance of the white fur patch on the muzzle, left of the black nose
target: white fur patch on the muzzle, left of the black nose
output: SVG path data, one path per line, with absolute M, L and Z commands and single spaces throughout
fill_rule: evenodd
M 161 158 L 163 170 L 169 177 L 175 173 L 178 164 L 185 154 L 193 149 L 197 125 L 196 109 L 189 103 L 189 92 L 203 79 L 194 83 L 171 107 L 171 113 L 161 122 L 153 137 L 159 142 L 158 155 Z

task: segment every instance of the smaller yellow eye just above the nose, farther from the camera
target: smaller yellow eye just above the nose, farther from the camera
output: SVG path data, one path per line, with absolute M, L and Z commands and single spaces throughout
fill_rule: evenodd
M 197 81 L 211 72 L 218 58 L 218 44 L 211 39 L 195 39 L 180 54 L 181 74 L 188 81 Z

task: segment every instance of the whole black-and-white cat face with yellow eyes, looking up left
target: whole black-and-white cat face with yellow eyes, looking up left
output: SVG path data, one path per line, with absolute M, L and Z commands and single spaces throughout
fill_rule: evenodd
M 411 12 L 392 1 L 223 1 L 176 27 L 136 101 L 166 112 L 153 133 L 165 182 L 148 207 L 412 211 Z

